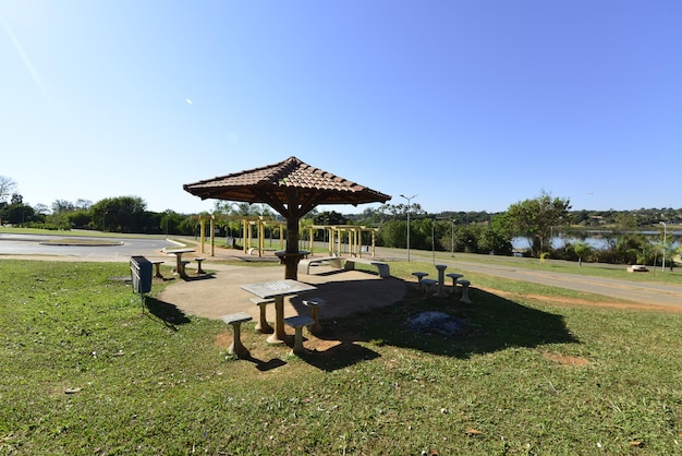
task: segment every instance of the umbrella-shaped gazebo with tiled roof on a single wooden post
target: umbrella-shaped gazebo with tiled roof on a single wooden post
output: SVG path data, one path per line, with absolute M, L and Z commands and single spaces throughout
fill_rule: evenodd
M 297 278 L 299 220 L 319 204 L 386 203 L 390 195 L 322 171 L 296 157 L 183 185 L 202 200 L 265 203 L 287 219 L 284 278 Z

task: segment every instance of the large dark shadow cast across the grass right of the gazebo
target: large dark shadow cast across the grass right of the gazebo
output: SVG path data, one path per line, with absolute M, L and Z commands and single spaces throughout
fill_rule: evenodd
M 470 288 L 470 297 L 471 304 L 460 302 L 459 296 L 424 299 L 422 292 L 411 287 L 406 296 L 394 304 L 333 322 L 322 320 L 325 332 L 317 341 L 321 349 L 310 349 L 303 359 L 321 370 L 333 371 L 380 356 L 358 343 L 412 348 L 460 359 L 510 347 L 580 343 L 565 326 L 562 315 L 476 288 Z M 444 336 L 412 329 L 410 319 L 427 311 L 452 315 L 462 323 L 461 331 Z

